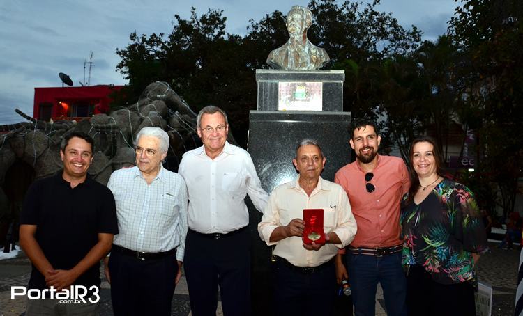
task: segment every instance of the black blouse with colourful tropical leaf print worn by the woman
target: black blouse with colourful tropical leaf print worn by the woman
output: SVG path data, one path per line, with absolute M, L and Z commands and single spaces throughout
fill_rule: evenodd
M 403 264 L 420 264 L 441 284 L 476 279 L 471 253 L 485 253 L 488 246 L 480 210 L 467 187 L 444 179 L 419 205 L 414 200 L 404 205 L 400 222 Z

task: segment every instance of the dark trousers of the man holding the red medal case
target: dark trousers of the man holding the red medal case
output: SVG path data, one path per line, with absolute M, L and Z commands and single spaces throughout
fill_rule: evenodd
M 274 270 L 275 315 L 334 314 L 337 285 L 333 262 L 324 269 L 304 274 L 278 260 Z

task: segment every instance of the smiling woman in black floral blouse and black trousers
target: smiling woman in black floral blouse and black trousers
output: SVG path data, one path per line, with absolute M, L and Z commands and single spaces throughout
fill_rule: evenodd
M 475 262 L 488 251 L 471 191 L 443 177 L 429 136 L 411 145 L 411 189 L 401 223 L 409 315 L 476 315 Z

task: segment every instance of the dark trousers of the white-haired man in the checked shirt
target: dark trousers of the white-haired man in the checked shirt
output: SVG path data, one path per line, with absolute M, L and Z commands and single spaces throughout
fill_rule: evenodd
M 113 251 L 109 258 L 109 273 L 114 315 L 171 315 L 178 273 L 174 254 L 139 260 Z

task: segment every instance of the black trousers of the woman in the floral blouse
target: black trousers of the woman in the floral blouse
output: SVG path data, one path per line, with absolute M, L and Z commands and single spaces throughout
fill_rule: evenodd
M 473 316 L 474 290 L 469 282 L 439 284 L 425 268 L 415 264 L 407 275 L 407 310 L 409 316 Z

